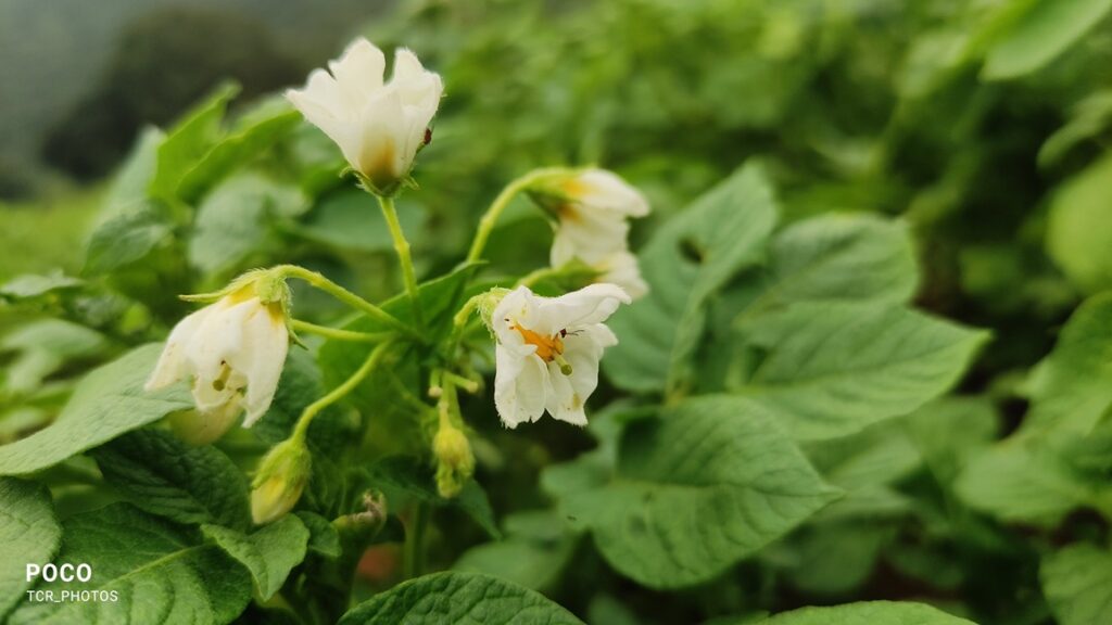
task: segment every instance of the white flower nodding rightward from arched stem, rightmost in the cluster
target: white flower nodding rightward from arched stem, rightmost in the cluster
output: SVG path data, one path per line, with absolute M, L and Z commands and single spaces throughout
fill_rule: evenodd
M 628 219 L 648 215 L 637 189 L 615 173 L 587 169 L 549 182 L 542 195 L 559 219 L 549 255 L 553 267 L 578 259 L 599 271 L 599 282 L 618 285 L 634 299 L 648 292 L 627 241 Z

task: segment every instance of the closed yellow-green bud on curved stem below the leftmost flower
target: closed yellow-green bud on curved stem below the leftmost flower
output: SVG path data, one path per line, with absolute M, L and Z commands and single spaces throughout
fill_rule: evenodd
M 257 525 L 270 523 L 297 505 L 309 483 L 312 456 L 298 438 L 270 449 L 251 483 L 251 517 Z

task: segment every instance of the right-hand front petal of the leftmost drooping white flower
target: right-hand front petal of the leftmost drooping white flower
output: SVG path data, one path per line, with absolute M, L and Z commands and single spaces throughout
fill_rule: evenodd
M 286 320 L 280 314 L 260 306 L 246 321 L 242 349 L 229 361 L 247 378 L 244 427 L 251 427 L 270 408 L 288 350 Z

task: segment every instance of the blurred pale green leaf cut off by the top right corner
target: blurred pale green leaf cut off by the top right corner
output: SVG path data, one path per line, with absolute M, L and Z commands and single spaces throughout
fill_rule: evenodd
M 1033 0 L 1027 4 L 989 49 L 983 78 L 1016 78 L 1042 68 L 1112 9 L 1112 0 Z

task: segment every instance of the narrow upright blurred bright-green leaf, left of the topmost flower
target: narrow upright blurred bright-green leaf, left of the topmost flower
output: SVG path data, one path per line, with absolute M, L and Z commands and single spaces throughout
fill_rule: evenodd
M 238 92 L 239 86 L 234 83 L 217 87 L 166 133 L 158 147 L 155 175 L 148 188 L 151 196 L 177 199 L 182 179 L 220 139 L 225 109 Z

